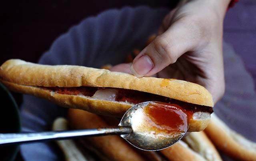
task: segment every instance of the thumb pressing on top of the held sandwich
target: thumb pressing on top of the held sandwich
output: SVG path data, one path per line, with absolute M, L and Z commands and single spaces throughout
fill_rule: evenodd
M 154 39 L 134 58 L 130 70 L 137 77 L 152 76 L 173 64 L 194 46 L 189 29 L 183 25 L 172 25 Z

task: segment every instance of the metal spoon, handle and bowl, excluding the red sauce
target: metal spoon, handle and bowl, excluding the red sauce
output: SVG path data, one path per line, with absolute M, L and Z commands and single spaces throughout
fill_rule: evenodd
M 71 139 L 78 137 L 120 135 L 131 145 L 142 150 L 156 151 L 165 149 L 178 142 L 185 135 L 186 131 L 184 133 L 176 135 L 175 137 L 170 137 L 164 135 L 156 136 L 154 134 L 148 133 L 147 131 L 143 132 L 143 130 L 138 130 L 138 122 L 142 120 L 140 118 L 142 109 L 143 107 L 146 107 L 146 105 L 152 102 L 153 101 L 142 102 L 132 106 L 130 109 L 128 109 L 128 111 L 126 111 L 118 127 L 116 128 L 82 129 L 72 131 L 47 131 L 36 133 L 0 133 L 0 145 Z

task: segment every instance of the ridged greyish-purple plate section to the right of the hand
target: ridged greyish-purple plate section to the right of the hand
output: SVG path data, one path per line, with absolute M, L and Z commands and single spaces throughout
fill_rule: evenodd
M 254 80 L 234 48 L 223 43 L 225 94 L 214 106 L 214 112 L 231 129 L 256 142 L 256 92 Z M 233 161 L 224 154 L 224 161 Z

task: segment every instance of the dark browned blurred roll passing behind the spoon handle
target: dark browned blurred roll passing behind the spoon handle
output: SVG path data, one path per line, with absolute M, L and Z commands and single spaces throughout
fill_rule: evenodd
M 98 115 L 78 109 L 69 109 L 68 120 L 74 129 L 93 129 L 109 126 Z M 145 161 L 120 136 L 90 137 L 86 138 L 86 140 L 91 143 L 91 146 L 98 149 L 102 155 L 107 156 L 112 161 Z

